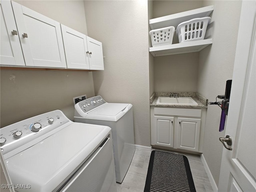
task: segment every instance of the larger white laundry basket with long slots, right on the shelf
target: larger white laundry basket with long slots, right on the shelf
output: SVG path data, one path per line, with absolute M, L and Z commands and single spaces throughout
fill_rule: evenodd
M 203 40 L 210 20 L 210 17 L 202 17 L 180 23 L 176 29 L 179 42 Z

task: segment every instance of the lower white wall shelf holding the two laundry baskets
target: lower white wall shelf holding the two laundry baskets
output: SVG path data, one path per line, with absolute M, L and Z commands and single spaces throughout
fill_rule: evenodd
M 212 39 L 188 41 L 171 45 L 150 47 L 149 52 L 153 57 L 198 52 L 210 44 L 212 44 Z

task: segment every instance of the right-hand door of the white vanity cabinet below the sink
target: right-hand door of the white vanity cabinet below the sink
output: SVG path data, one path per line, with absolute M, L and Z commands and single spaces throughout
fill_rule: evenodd
M 199 151 L 201 119 L 178 118 L 177 148 Z

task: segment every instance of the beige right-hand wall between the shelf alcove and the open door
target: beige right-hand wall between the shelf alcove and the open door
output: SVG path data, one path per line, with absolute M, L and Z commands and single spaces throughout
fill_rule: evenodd
M 225 94 L 226 80 L 232 79 L 241 1 L 204 1 L 204 6 L 212 4 L 213 44 L 200 52 L 198 92 L 214 102 L 216 96 Z M 203 150 L 217 186 L 223 149 L 219 137 L 225 137 L 218 132 L 220 114 L 218 106 L 208 106 Z

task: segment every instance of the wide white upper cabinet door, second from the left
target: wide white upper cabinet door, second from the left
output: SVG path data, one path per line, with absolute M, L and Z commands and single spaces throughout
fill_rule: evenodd
M 12 1 L 26 66 L 66 68 L 60 23 Z

